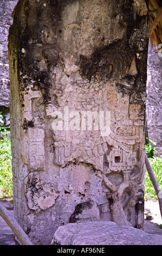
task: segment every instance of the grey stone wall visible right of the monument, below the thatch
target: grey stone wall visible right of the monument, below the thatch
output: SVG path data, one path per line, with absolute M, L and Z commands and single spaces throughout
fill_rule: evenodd
M 149 44 L 147 62 L 147 130 L 148 139 L 157 142 L 158 155 L 162 154 L 162 57 L 157 46 Z

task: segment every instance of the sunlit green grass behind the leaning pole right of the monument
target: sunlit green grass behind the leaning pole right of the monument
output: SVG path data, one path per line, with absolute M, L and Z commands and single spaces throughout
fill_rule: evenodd
M 155 178 L 162 190 L 162 158 L 161 157 L 150 157 L 149 163 L 151 164 Z M 158 200 L 157 194 L 155 193 L 154 187 L 146 169 L 145 173 L 145 199 Z

